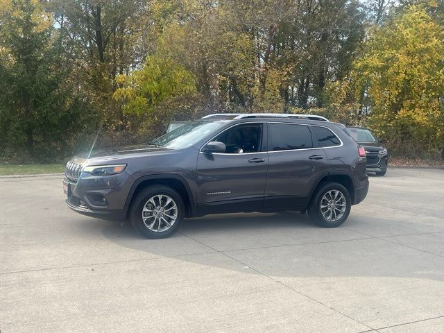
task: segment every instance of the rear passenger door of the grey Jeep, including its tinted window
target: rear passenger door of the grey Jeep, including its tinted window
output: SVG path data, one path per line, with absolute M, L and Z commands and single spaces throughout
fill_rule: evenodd
M 268 123 L 265 208 L 305 209 L 314 183 L 327 174 L 327 156 L 309 126 Z

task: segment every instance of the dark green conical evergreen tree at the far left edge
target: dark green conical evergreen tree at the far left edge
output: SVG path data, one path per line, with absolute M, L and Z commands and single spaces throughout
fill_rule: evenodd
M 53 44 L 53 24 L 40 1 L 3 3 L 0 22 L 0 128 L 12 146 L 46 151 L 65 146 L 83 126 L 83 101 L 73 96 L 69 68 Z

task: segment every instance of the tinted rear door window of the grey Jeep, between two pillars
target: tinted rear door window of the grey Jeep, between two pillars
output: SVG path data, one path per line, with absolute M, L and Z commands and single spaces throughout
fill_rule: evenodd
M 270 123 L 268 125 L 268 135 L 269 151 L 313 148 L 308 126 L 291 123 Z

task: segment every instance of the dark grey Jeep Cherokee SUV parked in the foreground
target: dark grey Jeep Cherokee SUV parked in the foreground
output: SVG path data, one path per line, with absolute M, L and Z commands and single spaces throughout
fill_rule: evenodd
M 184 217 L 228 212 L 308 210 L 337 227 L 366 197 L 366 157 L 345 126 L 326 120 L 211 114 L 143 148 L 78 155 L 65 173 L 67 205 L 130 219 L 148 238 L 169 237 Z

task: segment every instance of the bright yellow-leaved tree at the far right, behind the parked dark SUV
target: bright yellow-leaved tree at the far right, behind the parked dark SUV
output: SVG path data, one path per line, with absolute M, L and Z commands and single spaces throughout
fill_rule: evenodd
M 371 126 L 399 153 L 443 144 L 444 31 L 417 6 L 374 28 L 355 62 L 359 92 L 368 96 Z

